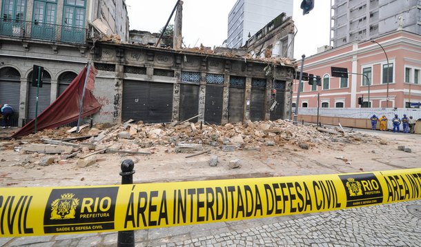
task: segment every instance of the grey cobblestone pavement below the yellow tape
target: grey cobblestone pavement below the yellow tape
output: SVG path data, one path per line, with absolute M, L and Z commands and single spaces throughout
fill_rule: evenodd
M 136 246 L 421 246 L 421 200 L 330 213 L 137 230 Z M 116 246 L 117 233 L 3 238 L 3 246 Z

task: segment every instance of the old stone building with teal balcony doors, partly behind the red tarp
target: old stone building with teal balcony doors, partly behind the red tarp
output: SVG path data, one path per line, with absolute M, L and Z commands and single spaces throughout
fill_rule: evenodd
M 92 39 L 128 40 L 124 0 L 0 0 L 0 7 L 0 103 L 14 108 L 14 126 L 36 116 L 34 64 L 44 68 L 39 113 L 90 60 Z

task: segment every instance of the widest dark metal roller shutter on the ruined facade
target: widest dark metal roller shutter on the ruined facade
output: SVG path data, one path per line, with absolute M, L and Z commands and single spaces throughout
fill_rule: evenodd
M 170 122 L 173 114 L 173 84 L 124 81 L 121 120 L 145 123 Z

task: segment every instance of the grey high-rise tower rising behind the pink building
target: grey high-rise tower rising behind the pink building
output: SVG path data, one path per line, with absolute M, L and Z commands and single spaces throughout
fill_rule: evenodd
M 421 34 L 421 0 L 332 0 L 332 3 L 333 47 L 395 30 Z

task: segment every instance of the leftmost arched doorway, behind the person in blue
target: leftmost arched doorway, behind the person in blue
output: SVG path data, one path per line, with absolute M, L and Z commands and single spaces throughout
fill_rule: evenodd
M 0 104 L 8 103 L 14 109 L 11 125 L 17 126 L 19 118 L 19 97 L 21 92 L 21 74 L 17 69 L 0 69 Z

